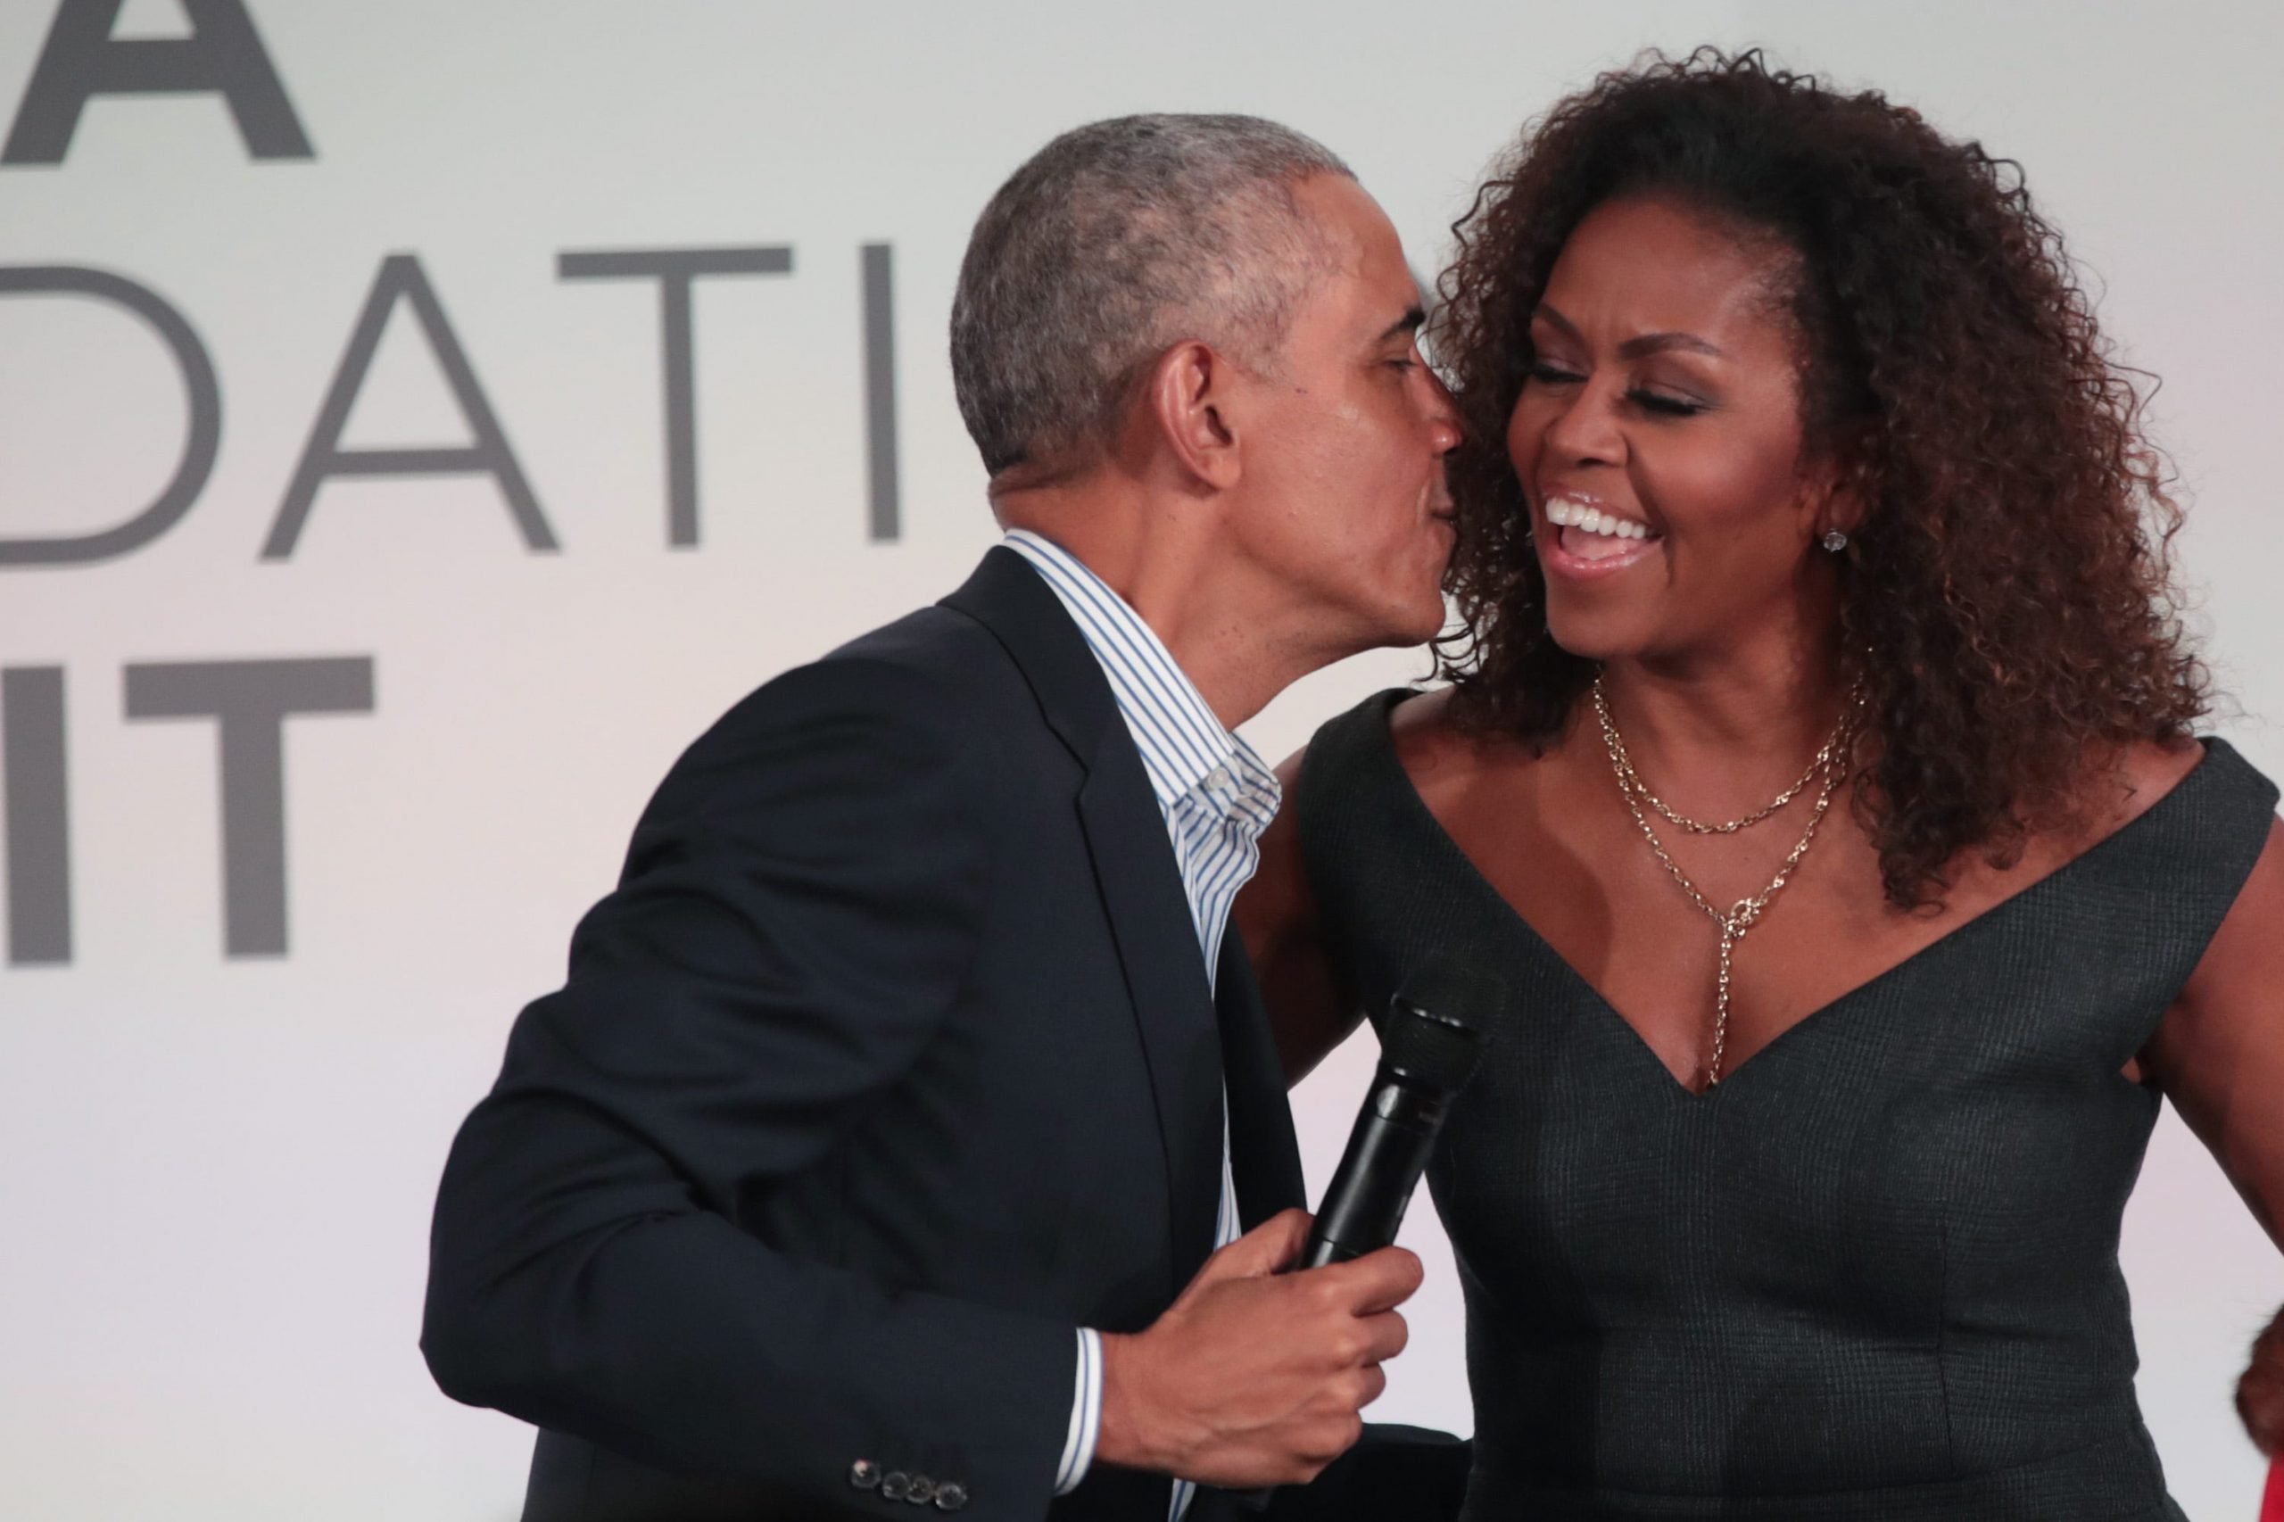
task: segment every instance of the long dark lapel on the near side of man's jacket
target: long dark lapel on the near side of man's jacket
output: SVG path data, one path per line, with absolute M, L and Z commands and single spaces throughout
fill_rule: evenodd
M 1174 1223 L 1167 1293 L 1179 1293 L 1213 1250 L 1222 1193 L 1222 1051 L 1165 816 L 1094 651 L 1021 555 L 994 548 L 943 603 L 998 638 L 1048 727 L 1087 770 L 1078 823 L 1149 1065 Z

